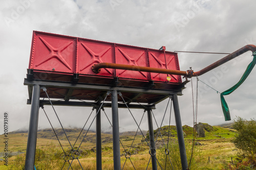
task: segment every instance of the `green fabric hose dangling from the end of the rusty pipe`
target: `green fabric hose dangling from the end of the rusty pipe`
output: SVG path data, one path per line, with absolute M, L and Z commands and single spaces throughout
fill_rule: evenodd
M 222 110 L 223 110 L 223 114 L 224 114 L 224 117 L 225 117 L 225 120 L 231 120 L 231 117 L 230 117 L 230 112 L 229 112 L 229 108 L 227 106 L 227 102 L 225 101 L 224 99 L 224 96 L 223 95 L 228 95 L 230 93 L 232 93 L 234 90 L 236 90 L 244 81 L 245 79 L 249 76 L 252 68 L 254 67 L 254 65 L 256 64 L 256 52 L 254 52 L 253 54 L 253 60 L 251 61 L 251 63 L 247 66 L 242 78 L 240 79 L 240 81 L 235 84 L 233 87 L 229 88 L 228 90 L 226 91 L 223 91 L 221 93 L 221 106 L 222 106 Z

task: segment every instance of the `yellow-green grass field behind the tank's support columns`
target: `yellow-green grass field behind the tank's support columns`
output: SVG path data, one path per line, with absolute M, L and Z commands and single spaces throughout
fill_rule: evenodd
M 157 132 L 159 129 L 155 130 L 155 137 L 157 136 Z M 161 133 L 163 136 L 163 140 L 167 140 L 166 131 L 168 132 L 168 126 L 161 128 Z M 172 140 L 176 139 L 176 127 L 171 126 L 170 131 L 172 132 L 170 138 Z M 183 126 L 185 141 L 188 144 L 192 143 L 193 137 L 193 128 L 188 126 Z M 60 138 L 60 142 L 63 145 L 65 151 L 70 151 L 71 147 L 69 142 L 66 140 L 66 136 L 61 133 L 60 130 L 57 131 L 58 137 Z M 69 129 L 67 130 L 68 137 L 70 138 L 70 142 L 73 144 L 79 134 L 78 129 Z M 82 133 L 84 135 L 84 133 Z M 200 167 L 208 169 L 222 169 L 224 164 L 228 164 L 231 162 L 231 157 L 233 161 L 236 161 L 236 149 L 234 145 L 231 143 L 230 139 L 233 138 L 234 132 L 231 129 L 223 128 L 219 126 L 214 126 L 208 132 L 205 131 L 205 137 L 196 137 L 196 141 L 200 143 L 200 145 L 195 146 L 195 150 L 198 155 L 198 169 Z M 78 138 L 78 142 L 75 145 L 79 146 L 81 139 L 83 137 Z M 145 135 L 146 136 L 146 135 Z M 1 135 L 3 138 L 3 135 Z M 8 159 L 8 167 L 14 163 L 15 158 L 22 157 L 25 159 L 25 152 L 27 148 L 27 133 L 10 133 L 9 134 L 9 159 Z M 121 166 L 123 166 L 125 162 L 124 169 L 146 169 L 148 161 L 150 160 L 150 154 L 148 154 L 149 147 L 147 143 L 142 140 L 143 136 L 137 135 L 134 139 L 134 132 L 123 133 L 120 135 L 120 140 L 122 144 L 120 144 L 120 152 L 121 152 Z M 79 157 L 79 161 L 82 166 L 87 167 L 86 169 L 95 169 L 96 167 L 96 136 L 94 132 L 89 132 L 87 137 L 81 144 L 80 150 L 81 154 Z M 131 144 L 133 142 L 133 147 L 130 150 Z M 164 155 L 164 145 L 162 143 L 162 138 L 158 137 L 158 142 L 156 144 L 157 149 L 157 157 Z M 0 148 L 4 148 L 4 143 L 0 143 Z M 41 150 L 49 150 L 49 148 L 56 148 L 61 153 L 61 148 L 59 148 L 59 142 L 56 140 L 55 135 L 51 130 L 42 130 L 38 132 L 37 138 L 37 149 Z M 125 152 L 130 150 L 131 157 L 130 159 L 125 158 Z M 0 151 L 3 152 L 3 151 Z M 170 152 L 172 152 L 170 150 Z M 2 153 L 3 154 L 3 153 Z M 17 156 L 18 155 L 18 156 Z M 127 156 L 127 155 L 126 155 Z M 54 161 L 54 160 L 53 160 Z M 55 162 L 56 163 L 56 162 Z M 62 165 L 64 163 L 63 160 L 60 161 Z M 35 162 L 35 164 L 39 164 L 39 162 Z M 80 169 L 79 162 L 75 159 L 72 162 L 73 169 Z M 112 134 L 102 134 L 102 167 L 103 169 L 113 169 L 113 144 L 112 144 Z M 0 169 L 8 169 L 7 166 L 4 165 L 3 160 L 0 164 Z M 64 168 L 63 168 L 64 169 Z M 148 165 L 147 169 L 151 169 L 151 162 Z

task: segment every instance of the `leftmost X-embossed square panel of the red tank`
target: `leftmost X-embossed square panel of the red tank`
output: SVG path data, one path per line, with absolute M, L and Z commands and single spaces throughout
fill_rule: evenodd
M 76 38 L 34 34 L 30 69 L 75 72 Z

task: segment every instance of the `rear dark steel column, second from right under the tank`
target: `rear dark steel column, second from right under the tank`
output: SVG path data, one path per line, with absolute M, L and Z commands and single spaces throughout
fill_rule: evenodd
M 154 139 L 154 129 L 151 109 L 146 109 L 147 111 L 147 122 L 148 122 L 148 134 L 150 135 L 150 154 L 152 160 L 152 169 L 157 170 L 157 159 L 156 159 L 156 150 L 155 150 L 155 139 Z

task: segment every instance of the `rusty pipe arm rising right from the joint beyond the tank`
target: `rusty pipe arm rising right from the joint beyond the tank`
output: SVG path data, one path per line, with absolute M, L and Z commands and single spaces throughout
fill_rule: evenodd
M 239 50 L 227 55 L 226 57 L 216 61 L 215 63 L 212 63 L 211 65 L 208 65 L 207 67 L 201 69 L 200 71 L 196 71 L 196 72 L 193 72 L 193 76 L 201 76 L 203 74 L 205 74 L 206 72 L 248 52 L 248 51 L 251 51 L 252 53 L 254 53 L 256 51 L 256 46 L 255 45 L 245 45 L 244 47 L 240 48 Z

